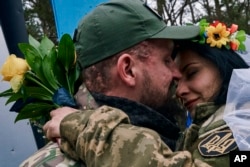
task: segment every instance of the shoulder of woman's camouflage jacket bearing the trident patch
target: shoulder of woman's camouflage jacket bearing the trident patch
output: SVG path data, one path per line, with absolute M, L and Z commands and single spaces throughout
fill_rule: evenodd
M 196 108 L 193 124 L 180 138 L 177 150 L 188 150 L 194 158 L 213 167 L 230 166 L 229 152 L 236 150 L 233 134 L 223 120 L 225 106 L 204 103 Z

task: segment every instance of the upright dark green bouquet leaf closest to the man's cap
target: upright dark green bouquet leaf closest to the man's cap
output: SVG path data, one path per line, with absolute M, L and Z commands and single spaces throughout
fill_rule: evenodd
M 75 63 L 75 47 L 69 34 L 64 34 L 61 37 L 58 47 L 58 59 L 61 61 L 67 72 Z

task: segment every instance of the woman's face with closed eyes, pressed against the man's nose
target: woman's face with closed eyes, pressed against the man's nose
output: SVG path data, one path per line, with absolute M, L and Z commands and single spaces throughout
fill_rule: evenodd
M 194 117 L 198 103 L 213 101 L 219 92 L 222 79 L 218 68 L 196 52 L 179 52 L 175 62 L 182 74 L 178 80 L 176 95 Z

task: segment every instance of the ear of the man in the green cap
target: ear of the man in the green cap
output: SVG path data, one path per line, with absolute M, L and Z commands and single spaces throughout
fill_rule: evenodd
M 130 54 L 122 54 L 117 61 L 117 72 L 121 80 L 128 86 L 135 85 L 135 59 Z

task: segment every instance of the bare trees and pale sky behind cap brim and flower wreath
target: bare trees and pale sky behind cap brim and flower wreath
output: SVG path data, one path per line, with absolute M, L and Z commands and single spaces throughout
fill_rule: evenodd
M 153 0 L 147 2 L 149 5 L 156 3 L 152 7 L 168 25 L 198 23 L 201 19 L 206 19 L 210 23 L 219 20 L 227 25 L 237 24 L 239 29 L 250 34 L 250 0 Z

